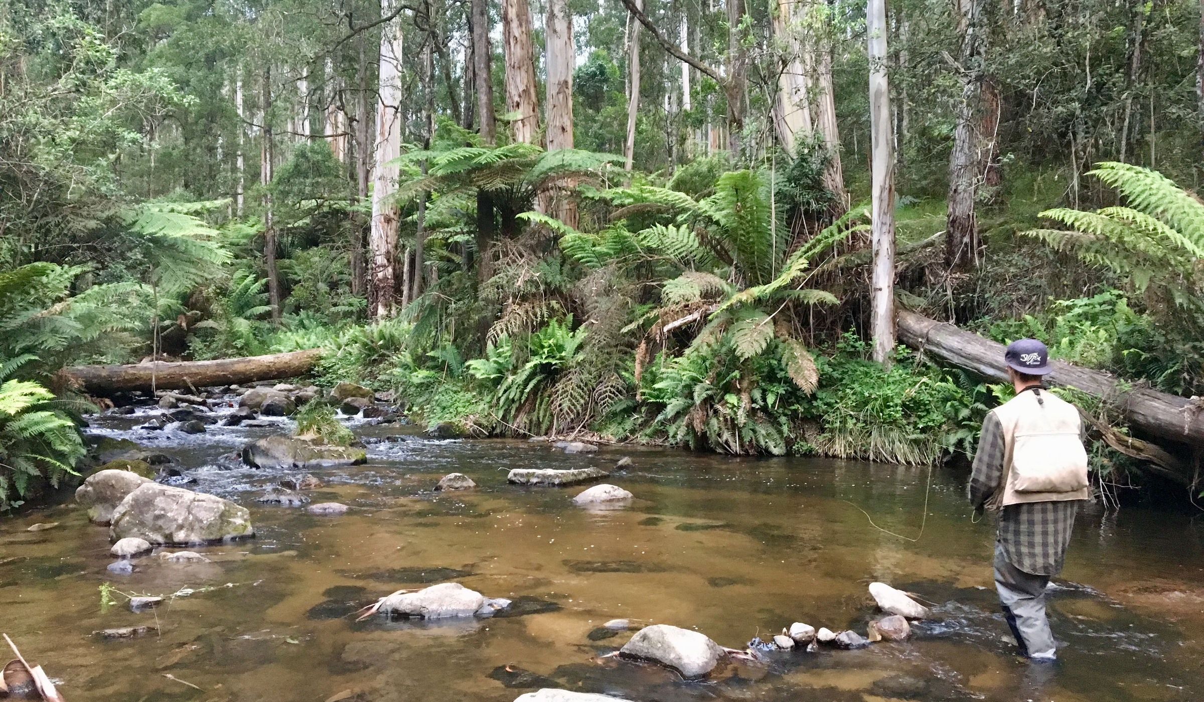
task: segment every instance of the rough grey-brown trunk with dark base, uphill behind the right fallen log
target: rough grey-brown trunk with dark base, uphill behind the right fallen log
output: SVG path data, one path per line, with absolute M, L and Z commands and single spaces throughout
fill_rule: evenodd
M 962 96 L 955 104 L 957 125 L 949 154 L 949 212 L 945 222 L 945 265 L 962 269 L 979 249 L 974 196 L 981 176 L 979 158 L 982 99 L 982 0 L 964 0 L 960 22 Z

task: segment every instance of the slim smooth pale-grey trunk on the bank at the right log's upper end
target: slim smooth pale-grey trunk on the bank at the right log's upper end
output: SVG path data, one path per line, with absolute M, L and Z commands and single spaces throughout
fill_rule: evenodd
M 889 364 L 895 348 L 895 140 L 886 76 L 886 0 L 868 0 L 870 237 L 873 281 L 870 334 L 874 360 Z

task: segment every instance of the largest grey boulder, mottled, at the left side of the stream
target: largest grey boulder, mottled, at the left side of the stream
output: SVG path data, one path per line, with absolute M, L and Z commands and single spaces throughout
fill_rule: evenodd
M 112 541 L 142 538 L 152 544 L 206 543 L 253 536 L 250 512 L 214 495 L 147 482 L 113 511 Z

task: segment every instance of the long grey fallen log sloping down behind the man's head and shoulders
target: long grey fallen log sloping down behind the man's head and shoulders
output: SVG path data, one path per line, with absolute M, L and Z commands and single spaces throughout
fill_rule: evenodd
M 896 307 L 898 338 L 927 355 L 974 371 L 995 381 L 1005 381 L 1002 343 L 937 321 L 910 309 Z M 1134 385 L 1103 371 L 1052 361 L 1050 383 L 1078 388 L 1120 409 L 1129 426 L 1144 435 L 1204 449 L 1204 403 Z M 1187 479 L 1191 479 L 1188 476 Z

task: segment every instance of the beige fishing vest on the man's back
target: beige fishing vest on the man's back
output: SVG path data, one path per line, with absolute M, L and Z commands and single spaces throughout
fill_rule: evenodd
M 1074 405 L 1049 390 L 1025 390 L 991 413 L 1003 426 L 1004 458 L 990 508 L 1091 497 L 1082 420 Z

